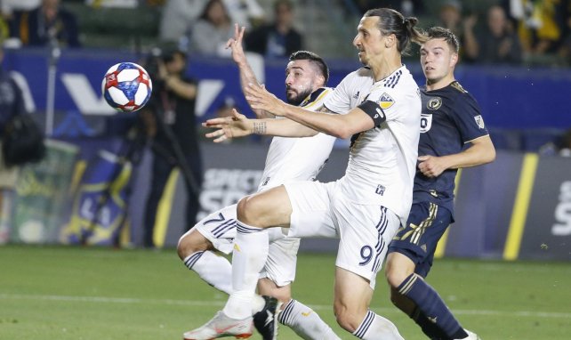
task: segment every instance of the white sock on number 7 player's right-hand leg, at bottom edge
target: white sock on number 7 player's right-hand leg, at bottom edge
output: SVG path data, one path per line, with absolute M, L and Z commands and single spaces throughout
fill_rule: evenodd
M 278 320 L 305 340 L 341 340 L 333 329 L 319 318 L 318 313 L 294 299 L 279 313 Z

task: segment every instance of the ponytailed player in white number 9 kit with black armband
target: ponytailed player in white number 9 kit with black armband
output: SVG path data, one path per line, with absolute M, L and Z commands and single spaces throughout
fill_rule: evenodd
M 286 183 L 238 202 L 233 292 L 206 327 L 251 322 L 257 273 L 268 252 L 266 228 L 282 226 L 289 227 L 289 236 L 341 237 L 335 262 L 334 313 L 342 328 L 361 339 L 402 339 L 390 320 L 368 307 L 390 240 L 405 225 L 412 204 L 421 100 L 401 57 L 411 41 L 424 38 L 414 28 L 416 22 L 387 8 L 364 14 L 353 45 L 375 83 L 366 91 L 366 101 L 349 112 L 310 112 L 251 85 L 246 99 L 253 109 L 289 119 L 249 120 L 235 111 L 234 121 L 207 122 L 219 128 L 207 134 L 215 142 L 252 133 L 300 137 L 317 132 L 352 136 L 352 142 L 342 179 Z

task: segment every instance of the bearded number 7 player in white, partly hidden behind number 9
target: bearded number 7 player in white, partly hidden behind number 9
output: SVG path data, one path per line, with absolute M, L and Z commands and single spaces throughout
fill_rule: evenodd
M 235 36 L 229 39 L 228 47 L 240 71 L 240 82 L 247 85 L 256 82 L 256 78 L 245 59 L 243 37 L 244 28 L 238 29 L 236 25 Z M 293 53 L 286 69 L 287 101 L 305 109 L 320 108 L 324 98 L 332 92 L 332 89 L 324 87 L 328 77 L 326 63 L 317 54 L 305 51 Z M 266 117 L 267 112 L 257 110 L 256 115 Z M 258 191 L 268 190 L 285 182 L 314 180 L 329 158 L 334 141 L 335 138 L 327 134 L 316 134 L 311 138 L 274 138 L 269 146 Z M 206 216 L 195 228 L 181 237 L 177 249 L 181 260 L 190 270 L 196 271 L 208 284 L 227 294 L 232 292 L 231 265 L 226 258 L 214 254 L 213 251 L 229 254 L 234 247 L 236 215 L 236 205 L 232 205 Z M 286 238 L 279 229 L 272 231 L 268 261 L 258 282 L 259 293 L 275 296 L 286 304 L 285 312 L 280 315 L 279 321 L 294 329 L 298 336 L 314 340 L 339 339 L 316 312 L 291 298 L 290 285 L 295 277 L 299 245 L 300 239 Z M 276 304 L 275 299 L 266 297 L 264 300 L 261 296 L 255 296 L 253 312 L 257 313 L 254 323 L 264 339 L 271 339 L 277 325 L 273 316 L 269 319 L 269 324 L 265 324 L 267 313 L 277 312 L 279 304 Z M 259 312 L 261 310 L 262 312 Z M 248 327 L 241 329 L 232 328 L 230 331 L 237 331 L 242 336 L 252 334 L 251 322 L 246 326 Z M 229 330 L 219 334 L 213 329 L 202 328 L 185 333 L 184 338 L 211 339 L 227 333 Z

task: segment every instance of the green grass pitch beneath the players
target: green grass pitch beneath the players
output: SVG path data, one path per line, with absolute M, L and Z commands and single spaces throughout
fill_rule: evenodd
M 302 254 L 294 297 L 342 339 L 354 339 L 334 321 L 333 273 L 333 255 Z M 462 325 L 484 340 L 571 338 L 571 263 L 444 259 L 428 280 Z M 3 340 L 181 339 L 225 301 L 182 265 L 174 249 L 0 247 Z M 382 273 L 372 309 L 395 322 L 407 340 L 424 338 L 390 305 Z M 297 338 L 286 327 L 278 337 Z

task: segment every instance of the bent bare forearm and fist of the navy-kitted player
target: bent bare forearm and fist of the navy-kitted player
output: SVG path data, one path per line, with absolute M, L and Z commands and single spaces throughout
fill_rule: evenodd
M 482 136 L 470 141 L 470 147 L 462 152 L 446 156 L 420 156 L 418 169 L 428 177 L 437 177 L 446 169 L 480 166 L 495 159 L 495 148 L 490 136 Z

